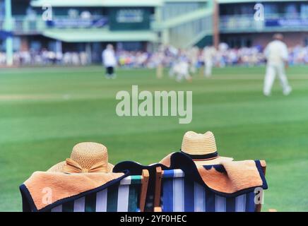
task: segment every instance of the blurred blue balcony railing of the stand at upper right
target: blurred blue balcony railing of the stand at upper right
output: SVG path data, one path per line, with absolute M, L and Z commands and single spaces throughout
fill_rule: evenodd
M 254 15 L 220 16 L 220 32 L 258 32 L 271 30 L 308 30 L 308 16 L 265 14 L 264 20 Z

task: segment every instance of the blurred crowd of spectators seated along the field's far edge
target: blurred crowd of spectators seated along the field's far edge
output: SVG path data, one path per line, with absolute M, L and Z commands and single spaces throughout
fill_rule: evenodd
M 174 62 L 186 59 L 189 64 L 199 67 L 204 62 L 203 49 L 177 49 L 172 46 L 160 47 L 158 52 L 117 51 L 117 63 L 122 68 L 155 68 L 159 64 L 171 67 Z M 24 51 L 13 54 L 14 65 L 71 65 L 83 66 L 93 63 L 86 52 L 57 53 L 47 49 L 40 52 Z M 229 48 L 227 44 L 220 44 L 220 48 L 213 54 L 213 66 L 258 66 L 265 63 L 263 48 L 242 47 Z M 0 65 L 6 64 L 5 52 L 0 52 Z M 289 64 L 308 64 L 308 46 L 290 47 Z

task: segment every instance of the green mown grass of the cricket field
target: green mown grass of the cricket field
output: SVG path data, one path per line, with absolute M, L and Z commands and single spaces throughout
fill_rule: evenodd
M 215 69 L 211 79 L 177 83 L 155 71 L 118 71 L 106 80 L 98 66 L 1 69 L 0 211 L 20 211 L 18 186 L 32 172 L 69 157 L 81 141 L 107 145 L 109 160 L 159 161 L 179 150 L 186 131 L 213 131 L 220 155 L 264 159 L 269 189 L 263 210 L 308 210 L 307 67 L 290 68 L 294 92 L 278 82 L 262 95 L 264 68 Z M 119 90 L 192 90 L 193 120 L 177 117 L 117 117 Z

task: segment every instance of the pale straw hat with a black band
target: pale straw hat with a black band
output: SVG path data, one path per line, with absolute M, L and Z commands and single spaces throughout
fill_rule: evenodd
M 182 141 L 182 153 L 189 155 L 197 166 L 218 165 L 223 161 L 232 161 L 232 157 L 221 157 L 218 155 L 214 134 L 195 133 L 188 131 L 184 134 Z

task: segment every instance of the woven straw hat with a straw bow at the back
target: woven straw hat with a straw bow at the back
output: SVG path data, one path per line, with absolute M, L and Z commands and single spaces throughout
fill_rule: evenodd
M 47 172 L 112 172 L 114 165 L 108 163 L 107 148 L 101 143 L 78 143 L 71 151 L 71 158 L 59 162 Z

